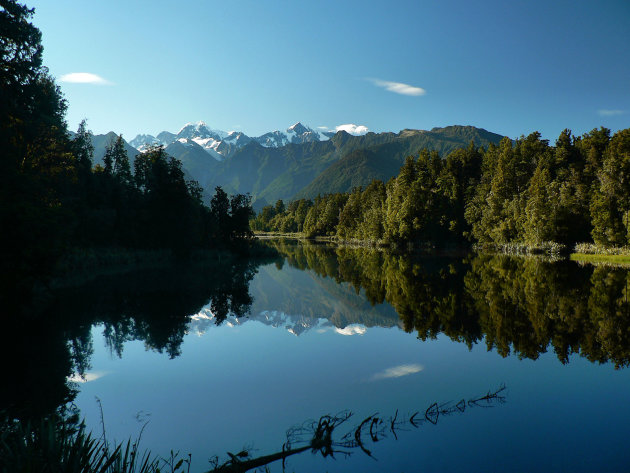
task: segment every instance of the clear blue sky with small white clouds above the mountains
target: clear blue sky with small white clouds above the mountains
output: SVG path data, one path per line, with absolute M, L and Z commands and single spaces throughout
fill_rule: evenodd
M 27 4 L 72 129 L 630 127 L 627 0 Z

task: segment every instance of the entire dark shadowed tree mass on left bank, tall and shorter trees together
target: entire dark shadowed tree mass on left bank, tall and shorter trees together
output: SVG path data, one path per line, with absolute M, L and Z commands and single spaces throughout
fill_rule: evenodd
M 0 288 L 28 294 L 76 246 L 192 248 L 248 240 L 247 196 L 211 205 L 182 165 L 155 147 L 131 163 L 118 137 L 93 166 L 83 122 L 73 139 L 66 101 L 42 64 L 33 10 L 0 1 Z

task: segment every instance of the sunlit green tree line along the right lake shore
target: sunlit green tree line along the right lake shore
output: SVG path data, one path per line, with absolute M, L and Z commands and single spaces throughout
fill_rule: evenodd
M 278 201 L 251 226 L 393 245 L 626 246 L 629 220 L 630 129 L 600 128 L 564 130 L 555 146 L 535 132 L 446 157 L 423 150 L 386 184 Z

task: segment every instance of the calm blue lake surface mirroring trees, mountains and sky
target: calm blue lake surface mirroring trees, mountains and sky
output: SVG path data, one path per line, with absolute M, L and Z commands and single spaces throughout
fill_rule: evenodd
M 334 451 L 286 471 L 628 470 L 627 270 L 270 244 L 260 265 L 68 290 L 74 375 L 40 389 L 194 472 L 307 445 L 327 414 Z

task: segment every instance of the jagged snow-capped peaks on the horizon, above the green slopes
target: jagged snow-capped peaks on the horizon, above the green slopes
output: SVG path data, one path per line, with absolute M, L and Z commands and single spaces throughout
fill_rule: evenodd
M 148 146 L 169 144 L 179 141 L 186 144 L 189 140 L 201 146 L 217 161 L 231 156 L 237 149 L 255 141 L 266 148 L 279 148 L 290 143 L 299 144 L 311 141 L 324 141 L 330 138 L 330 133 L 313 130 L 300 122 L 290 126 L 285 131 L 275 130 L 257 137 L 249 137 L 240 131 L 225 132 L 210 128 L 205 122 L 187 123 L 178 133 L 163 131 L 157 137 L 152 135 L 138 135 L 130 144 L 139 151 L 145 151 Z

